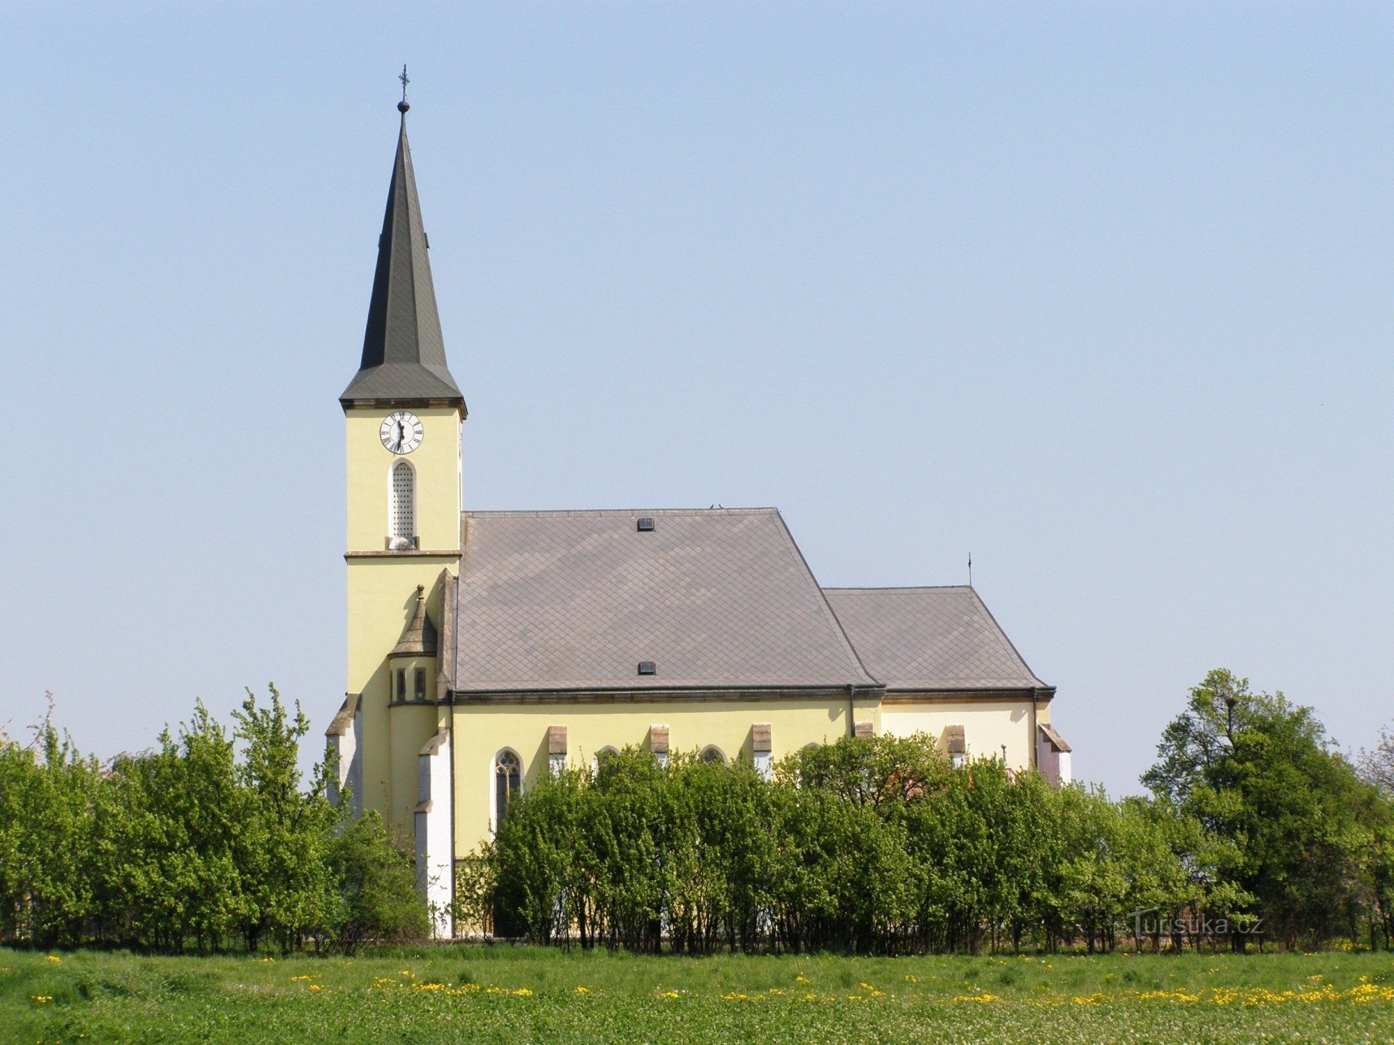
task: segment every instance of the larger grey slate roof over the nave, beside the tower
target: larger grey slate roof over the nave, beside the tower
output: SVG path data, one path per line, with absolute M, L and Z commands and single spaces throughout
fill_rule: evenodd
M 775 509 L 461 521 L 454 692 L 877 687 Z

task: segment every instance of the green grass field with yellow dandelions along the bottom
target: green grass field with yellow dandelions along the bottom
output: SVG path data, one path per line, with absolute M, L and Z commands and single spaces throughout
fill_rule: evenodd
M 0 950 L 15 1042 L 1388 1042 L 1394 956 L 354 959 Z

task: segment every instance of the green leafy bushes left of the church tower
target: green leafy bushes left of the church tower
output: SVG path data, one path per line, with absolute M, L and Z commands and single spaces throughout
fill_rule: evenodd
M 229 733 L 202 704 L 106 765 L 50 725 L 0 737 L 0 939 L 199 953 L 425 934 L 411 860 L 381 821 L 346 822 L 328 771 L 301 780 L 309 722 L 275 687 Z

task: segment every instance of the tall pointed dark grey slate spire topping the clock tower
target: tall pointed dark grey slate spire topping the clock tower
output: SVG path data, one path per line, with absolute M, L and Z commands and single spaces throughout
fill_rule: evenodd
M 372 277 L 362 364 L 339 397 L 344 407 L 401 401 L 464 407 L 464 396 L 445 362 L 427 234 L 421 227 L 421 202 L 407 144 L 408 107 L 406 100 L 397 106 L 401 134 L 388 189 L 388 213 L 378 238 L 378 272 Z

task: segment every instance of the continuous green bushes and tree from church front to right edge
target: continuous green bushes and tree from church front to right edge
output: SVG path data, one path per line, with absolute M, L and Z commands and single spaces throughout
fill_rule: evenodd
M 951 768 L 923 736 L 807 748 L 771 780 L 629 748 L 514 801 L 457 915 L 644 953 L 1388 943 L 1394 810 L 1309 709 L 1211 672 L 1160 755 L 1154 797 L 1112 801 Z

